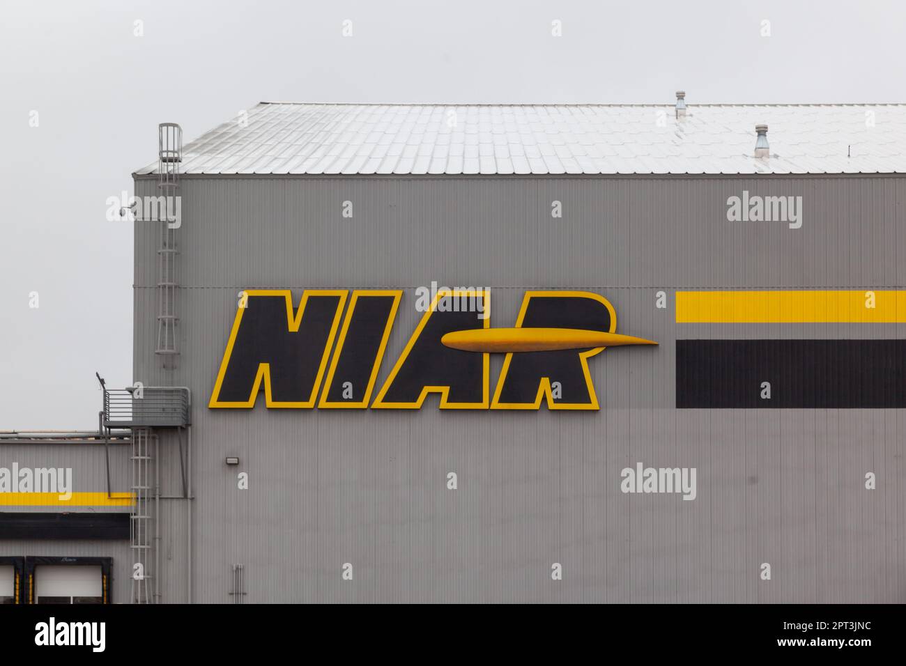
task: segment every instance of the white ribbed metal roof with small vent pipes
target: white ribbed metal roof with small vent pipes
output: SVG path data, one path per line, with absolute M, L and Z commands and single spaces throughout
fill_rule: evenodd
M 267 103 L 187 174 L 906 173 L 906 104 Z M 771 157 L 754 157 L 755 126 Z M 157 172 L 157 162 L 136 174 Z

